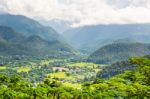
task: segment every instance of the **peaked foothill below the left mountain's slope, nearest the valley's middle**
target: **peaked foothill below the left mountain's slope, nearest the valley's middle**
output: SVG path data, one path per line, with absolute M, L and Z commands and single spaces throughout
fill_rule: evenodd
M 35 54 L 44 55 L 59 55 L 60 53 L 72 53 L 72 49 L 69 49 L 67 45 L 61 44 L 59 41 L 46 41 L 39 36 L 33 35 L 28 37 L 22 42 L 25 46 L 28 46 Z

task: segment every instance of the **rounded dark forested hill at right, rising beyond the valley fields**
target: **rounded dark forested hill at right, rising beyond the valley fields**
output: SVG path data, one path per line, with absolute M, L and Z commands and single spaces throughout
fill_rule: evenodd
M 130 57 L 150 54 L 150 44 L 144 43 L 113 43 L 101 47 L 92 53 L 88 61 L 108 64 L 117 61 L 125 61 Z

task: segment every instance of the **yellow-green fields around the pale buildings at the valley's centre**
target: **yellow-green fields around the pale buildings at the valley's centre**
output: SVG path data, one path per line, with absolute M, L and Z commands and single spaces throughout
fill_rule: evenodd
M 77 82 L 82 81 L 85 77 L 95 76 L 100 71 L 99 64 L 78 62 L 78 63 L 67 63 L 68 71 L 57 71 L 55 73 L 48 74 L 49 78 L 58 78 L 65 82 Z M 73 68 L 72 68 L 73 67 Z M 94 71 L 92 71 L 94 70 Z M 95 73 L 94 73 L 95 72 Z

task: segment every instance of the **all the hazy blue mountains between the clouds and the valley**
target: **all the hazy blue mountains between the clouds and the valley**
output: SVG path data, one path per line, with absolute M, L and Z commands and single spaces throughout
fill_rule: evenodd
M 112 63 L 150 54 L 146 44 L 150 43 L 150 24 L 92 25 L 59 34 L 21 15 L 0 14 L 0 20 L 0 51 L 4 55 L 61 56 L 78 49 L 89 55 L 88 61 Z

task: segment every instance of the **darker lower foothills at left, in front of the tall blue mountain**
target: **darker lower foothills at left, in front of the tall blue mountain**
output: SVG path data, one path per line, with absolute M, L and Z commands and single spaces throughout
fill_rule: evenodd
M 67 45 L 57 40 L 47 41 L 38 35 L 24 36 L 6 26 L 0 26 L 0 55 L 60 56 L 72 54 Z

